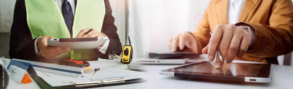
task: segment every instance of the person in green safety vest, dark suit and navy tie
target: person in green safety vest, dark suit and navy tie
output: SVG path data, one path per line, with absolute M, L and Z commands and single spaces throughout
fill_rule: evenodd
M 87 31 L 90 32 L 85 34 Z M 108 59 L 108 54 L 119 55 L 122 51 L 116 31 L 108 0 L 17 0 L 9 56 L 46 63 L 57 63 L 62 59 Z M 109 39 L 91 50 L 70 50 L 47 45 L 47 39 L 50 38 L 75 37 Z

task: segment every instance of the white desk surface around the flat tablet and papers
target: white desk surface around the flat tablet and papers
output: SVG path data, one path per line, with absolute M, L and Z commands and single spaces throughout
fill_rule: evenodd
M 133 59 L 132 62 L 142 60 Z M 207 55 L 202 54 L 200 58 L 186 60 L 183 65 L 191 64 L 194 62 L 207 61 Z M 100 61 L 91 61 L 96 64 L 102 64 L 117 69 L 127 69 L 127 64 L 121 64 L 120 59 L 100 59 Z M 251 63 L 251 61 L 233 62 Z M 201 81 L 190 80 L 188 78 L 172 77 L 159 75 L 160 70 L 174 68 L 183 65 L 150 65 L 151 70 L 145 71 L 147 78 L 143 78 L 148 82 L 133 83 L 127 85 L 115 85 L 107 87 L 99 87 L 98 89 L 293 89 L 293 67 L 281 66 L 272 64 L 272 81 L 270 83 L 239 83 L 239 82 L 221 82 L 221 81 Z M 292 76 L 292 78 L 290 77 Z M 9 80 L 7 89 L 39 89 L 40 87 L 33 81 L 29 84 L 18 85 L 16 82 Z M 92 89 L 92 88 L 88 88 Z M 97 88 L 93 88 L 97 89 Z

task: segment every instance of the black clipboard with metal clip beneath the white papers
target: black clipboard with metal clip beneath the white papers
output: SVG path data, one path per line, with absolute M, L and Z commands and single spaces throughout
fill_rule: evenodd
M 132 80 L 126 80 L 125 82 L 117 82 L 117 83 L 108 83 L 108 84 L 99 84 L 99 85 L 86 85 L 86 86 L 75 86 L 75 85 L 67 85 L 67 86 L 59 86 L 59 87 L 52 87 L 38 75 L 31 75 L 31 78 L 35 80 L 35 82 L 40 86 L 42 89 L 79 89 L 79 88 L 96 88 L 96 87 L 104 87 L 104 86 L 113 86 L 113 85 L 123 85 L 123 84 L 133 84 L 133 83 L 143 83 L 147 82 L 147 80 L 138 78 Z

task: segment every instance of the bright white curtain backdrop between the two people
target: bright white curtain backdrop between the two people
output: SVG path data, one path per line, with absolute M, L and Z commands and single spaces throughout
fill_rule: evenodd
M 168 39 L 195 31 L 210 0 L 129 0 L 128 35 L 134 58 L 146 52 L 171 52 Z

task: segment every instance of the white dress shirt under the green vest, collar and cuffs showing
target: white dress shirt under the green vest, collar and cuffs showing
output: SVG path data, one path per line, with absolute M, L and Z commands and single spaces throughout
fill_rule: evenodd
M 61 13 L 62 13 L 62 3 L 64 0 L 55 0 L 56 1 L 56 4 L 57 6 L 59 7 Z M 74 16 L 74 13 L 75 13 L 75 1 L 74 0 L 67 0 L 72 8 L 72 13 L 73 13 L 73 16 Z M 102 33 L 102 32 L 101 32 Z M 105 35 L 104 33 L 102 33 L 103 35 Z M 107 37 L 105 35 L 105 37 Z M 37 57 L 42 57 L 42 54 L 38 51 L 38 47 L 37 47 L 37 40 L 39 39 L 40 37 L 38 37 L 36 40 L 35 40 L 35 53 L 36 53 L 36 56 Z M 109 43 L 110 43 L 110 40 L 108 39 L 102 47 L 98 47 L 97 49 L 103 53 L 103 54 L 106 54 L 107 52 L 107 49 L 109 47 Z

